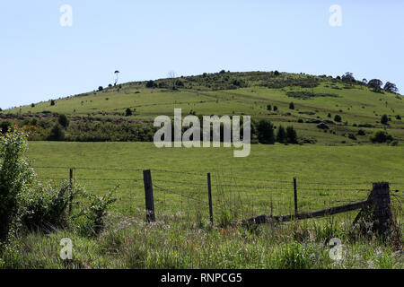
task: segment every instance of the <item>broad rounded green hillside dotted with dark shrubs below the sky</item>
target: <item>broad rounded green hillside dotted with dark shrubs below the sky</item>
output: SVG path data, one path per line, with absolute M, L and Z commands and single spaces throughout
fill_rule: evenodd
M 294 109 L 290 109 L 290 103 Z M 52 105 L 54 104 L 54 105 Z M 270 105 L 270 109 L 268 109 Z M 277 107 L 277 110 L 274 108 Z M 132 115 L 127 116 L 127 108 Z M 3 119 L 37 128 L 42 139 L 49 133 L 57 114 L 70 118 L 71 130 L 77 134 L 84 124 L 88 130 L 108 133 L 113 125 L 135 125 L 128 133 L 137 133 L 142 125 L 151 125 L 154 117 L 172 116 L 174 108 L 183 115 L 250 115 L 253 120 L 267 118 L 275 126 L 294 126 L 303 143 L 352 144 L 370 143 L 376 131 L 386 130 L 395 142 L 404 142 L 404 102 L 399 94 L 374 92 L 353 81 L 347 83 L 328 76 L 273 72 L 202 74 L 149 82 L 122 83 L 116 87 L 64 99 L 53 99 L 5 110 Z M 336 118 L 340 116 L 340 120 Z M 381 123 L 387 115 L 387 125 Z M 102 126 L 109 124 L 111 126 Z M 89 126 L 90 125 L 90 126 Z M 94 126 L 94 125 L 98 125 Z M 101 127 L 100 127 L 101 126 Z M 81 127 L 80 127 L 81 128 Z M 146 132 L 148 138 L 151 132 Z M 142 139 L 144 135 L 142 135 Z M 140 138 L 140 137 L 139 137 Z M 86 138 L 71 136 L 69 140 Z M 88 140 L 97 140 L 88 137 Z M 104 140 L 125 139 L 108 137 Z M 136 141 L 137 137 L 127 140 Z

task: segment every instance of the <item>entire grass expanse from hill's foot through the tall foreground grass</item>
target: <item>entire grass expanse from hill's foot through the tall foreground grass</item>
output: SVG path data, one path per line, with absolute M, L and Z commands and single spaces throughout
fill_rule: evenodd
M 294 176 L 301 211 L 364 199 L 373 181 L 390 181 L 391 189 L 402 192 L 402 154 L 402 147 L 390 146 L 253 145 L 249 158 L 235 159 L 224 148 L 158 150 L 153 143 L 30 143 L 29 158 L 42 180 L 67 178 L 67 168 L 75 167 L 76 182 L 100 195 L 122 183 L 120 200 L 98 237 L 83 237 L 75 229 L 48 235 L 41 231 L 17 234 L 13 248 L 0 259 L 0 267 L 401 269 L 402 242 L 383 243 L 358 235 L 352 224 L 357 212 L 251 229 L 221 226 L 219 221 L 224 216 L 220 207 L 237 207 L 232 203 L 240 199 L 247 209 L 239 213 L 239 219 L 269 212 L 271 202 L 274 213 L 290 212 Z M 152 169 L 155 185 L 200 199 L 207 197 L 206 172 L 212 172 L 215 224 L 208 224 L 206 204 L 176 194 L 164 196 L 156 188 L 157 222 L 145 223 L 143 169 Z M 139 181 L 127 183 L 119 178 Z M 227 183 L 237 187 L 232 191 Z M 220 193 L 221 187 L 227 189 Z M 247 196 L 238 197 L 238 191 Z M 229 205 L 218 203 L 219 196 L 229 195 L 234 195 Z M 402 206 L 393 197 L 392 203 L 397 215 Z M 74 244 L 74 259 L 68 262 L 58 257 L 62 238 Z M 343 244 L 341 260 L 330 256 L 331 238 Z

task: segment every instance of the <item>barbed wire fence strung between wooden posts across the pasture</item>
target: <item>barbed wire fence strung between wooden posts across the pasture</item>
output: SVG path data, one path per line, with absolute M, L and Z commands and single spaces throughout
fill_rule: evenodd
M 126 216 L 145 212 L 143 169 L 34 166 L 40 180 L 72 180 L 88 192 L 103 196 L 119 186 L 113 211 Z M 70 172 L 70 170 L 72 170 Z M 290 178 L 291 172 L 276 171 L 283 179 L 234 176 L 223 170 L 214 173 L 192 170 L 150 170 L 153 173 L 154 215 L 157 219 L 184 220 L 202 224 L 211 217 L 219 224 L 245 220 L 261 214 L 310 213 L 341 204 L 366 200 L 371 182 L 363 178 Z M 209 174 L 209 176 L 207 175 Z M 208 180 L 207 177 L 211 177 Z M 209 188 L 210 183 L 210 188 Z M 404 179 L 390 183 L 391 204 L 402 216 Z M 210 189 L 210 196 L 208 190 Z M 212 213 L 211 213 L 212 210 Z M 349 213 L 346 214 L 347 216 Z M 402 222 L 401 222 L 402 224 Z

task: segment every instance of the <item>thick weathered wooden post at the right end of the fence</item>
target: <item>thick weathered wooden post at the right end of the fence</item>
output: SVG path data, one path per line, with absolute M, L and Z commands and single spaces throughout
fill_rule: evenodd
M 391 201 L 388 182 L 374 182 L 372 189 L 373 228 L 379 235 L 387 235 L 391 230 Z

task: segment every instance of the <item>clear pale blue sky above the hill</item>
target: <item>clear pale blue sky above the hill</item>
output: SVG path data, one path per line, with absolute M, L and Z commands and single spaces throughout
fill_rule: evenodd
M 116 70 L 119 83 L 170 71 L 351 72 L 404 93 L 403 29 L 402 0 L 2 0 L 0 108 L 93 91 Z

